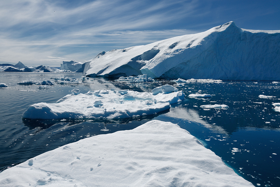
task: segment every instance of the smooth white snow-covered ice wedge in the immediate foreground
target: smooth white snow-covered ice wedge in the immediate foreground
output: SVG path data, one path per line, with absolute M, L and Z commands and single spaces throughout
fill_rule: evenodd
M 153 120 L 48 151 L 0 173 L 0 186 L 250 187 L 184 129 Z

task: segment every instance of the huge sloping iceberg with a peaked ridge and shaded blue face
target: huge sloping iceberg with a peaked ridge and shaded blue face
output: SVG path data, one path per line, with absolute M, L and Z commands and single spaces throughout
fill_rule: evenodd
M 280 80 L 280 31 L 241 29 L 234 22 L 145 46 L 101 52 L 83 74 L 165 79 Z

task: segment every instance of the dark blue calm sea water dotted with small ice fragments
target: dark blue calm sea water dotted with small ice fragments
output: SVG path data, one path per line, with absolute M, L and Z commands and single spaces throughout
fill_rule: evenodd
M 128 130 L 157 119 L 177 123 L 196 138 L 240 176 L 255 186 L 280 186 L 280 113 L 272 103 L 280 103 L 280 84 L 272 81 L 223 81 L 222 83 L 188 83 L 177 87 L 187 96 L 207 93 L 208 100 L 186 97 L 172 105 L 169 112 L 140 119 L 116 122 L 72 120 L 22 120 L 22 113 L 34 103 L 54 103 L 71 90 L 81 93 L 98 89 L 131 89 L 151 91 L 169 80 L 153 83 L 125 83 L 114 79 L 89 78 L 81 84 L 56 84 L 50 89 L 38 85 L 19 85 L 22 80 L 54 80 L 68 76 L 80 79 L 78 73 L 16 73 L 0 72 L 0 83 L 9 87 L 0 89 L 0 171 L 24 162 L 46 151 L 98 134 Z M 259 95 L 274 96 L 271 99 Z M 226 104 L 227 110 L 203 110 L 201 105 Z M 236 150 L 233 152 L 232 150 Z

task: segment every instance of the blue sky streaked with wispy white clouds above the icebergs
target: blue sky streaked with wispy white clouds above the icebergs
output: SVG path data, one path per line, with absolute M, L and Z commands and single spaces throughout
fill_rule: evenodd
M 0 64 L 60 67 L 234 21 L 280 30 L 275 0 L 1 0 Z

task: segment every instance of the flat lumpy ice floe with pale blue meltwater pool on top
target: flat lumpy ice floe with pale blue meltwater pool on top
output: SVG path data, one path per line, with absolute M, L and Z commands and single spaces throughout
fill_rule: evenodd
M 170 109 L 170 104 L 185 99 L 182 91 L 172 93 L 96 90 L 66 95 L 57 103 L 37 103 L 22 114 L 28 119 L 124 119 L 155 115 Z M 147 102 L 147 100 L 149 102 Z

